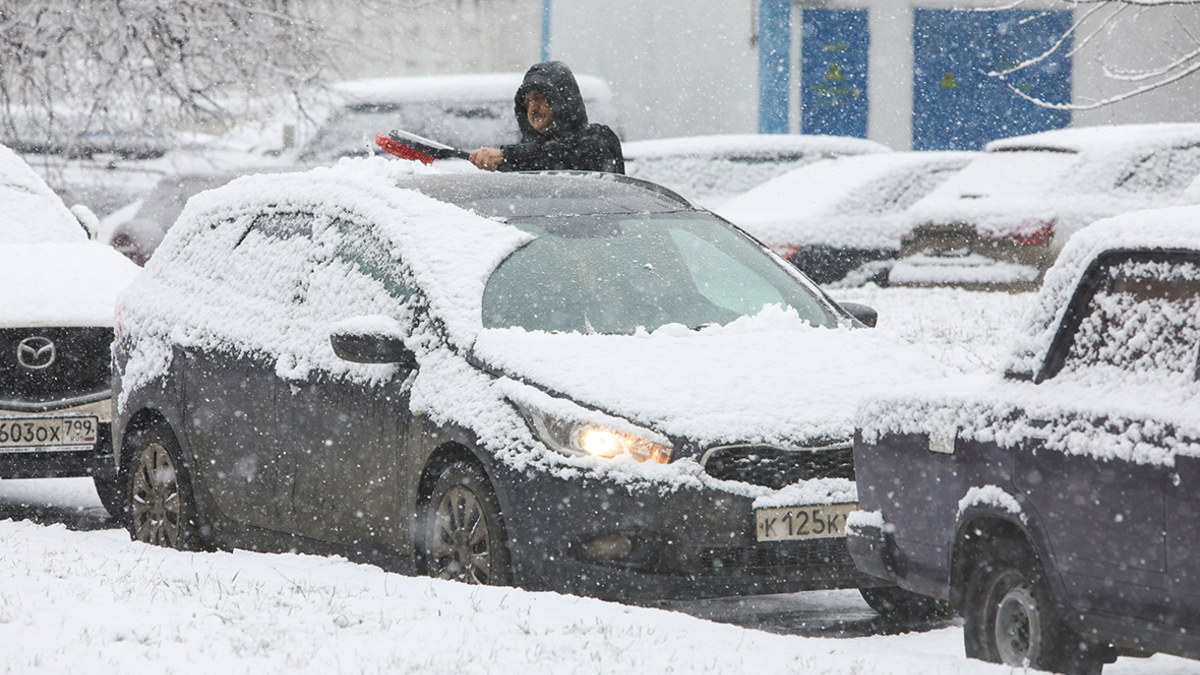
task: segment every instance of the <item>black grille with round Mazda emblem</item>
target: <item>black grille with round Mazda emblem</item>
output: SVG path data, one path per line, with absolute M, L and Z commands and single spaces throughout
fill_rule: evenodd
M 112 328 L 0 329 L 0 405 L 103 394 L 112 388 Z

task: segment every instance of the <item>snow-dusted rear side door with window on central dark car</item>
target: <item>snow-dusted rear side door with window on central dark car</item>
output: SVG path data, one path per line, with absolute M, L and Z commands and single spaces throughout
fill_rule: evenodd
M 239 334 L 222 334 L 185 351 L 185 425 L 197 459 L 199 484 L 227 518 L 276 531 L 292 527 L 295 460 L 277 438 L 277 356 L 259 344 L 275 339 L 302 299 L 305 250 L 311 216 L 259 214 L 222 264 L 210 307 L 245 321 Z

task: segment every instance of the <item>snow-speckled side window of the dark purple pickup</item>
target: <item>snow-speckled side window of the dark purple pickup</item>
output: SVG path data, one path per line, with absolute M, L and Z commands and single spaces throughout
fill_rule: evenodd
M 1200 345 L 1200 264 L 1127 258 L 1100 274 L 1062 374 L 1120 370 L 1142 378 L 1193 380 Z

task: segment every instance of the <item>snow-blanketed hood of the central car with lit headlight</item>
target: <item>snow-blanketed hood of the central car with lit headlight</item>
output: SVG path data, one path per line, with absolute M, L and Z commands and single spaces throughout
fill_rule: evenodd
M 724 327 L 635 335 L 485 330 L 474 358 L 552 395 L 707 446 L 848 438 L 864 396 L 943 366 L 882 331 L 768 307 Z

